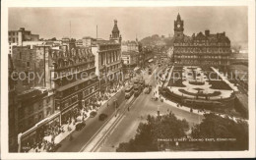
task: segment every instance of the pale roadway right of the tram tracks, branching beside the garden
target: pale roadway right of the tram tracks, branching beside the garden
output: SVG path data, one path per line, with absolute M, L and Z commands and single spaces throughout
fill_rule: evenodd
M 157 69 L 158 71 L 160 71 L 159 68 Z M 146 81 L 149 80 L 150 84 L 155 85 L 156 80 L 153 77 L 146 75 L 144 78 Z M 170 110 L 178 119 L 186 119 L 190 127 L 199 124 L 203 119 L 201 115 L 181 110 L 160 101 L 153 101 L 151 97 L 151 94 L 141 94 L 133 103 L 130 111 L 125 114 L 123 120 L 115 128 L 114 132 L 108 136 L 104 144 L 97 151 L 115 152 L 120 142 L 127 142 L 134 137 L 139 124 L 146 121 L 147 115 L 157 115 L 158 108 L 160 108 L 160 114 L 167 113 L 167 110 Z

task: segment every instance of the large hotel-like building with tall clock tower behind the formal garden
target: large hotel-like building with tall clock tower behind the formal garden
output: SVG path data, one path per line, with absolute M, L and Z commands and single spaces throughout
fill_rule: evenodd
M 178 14 L 174 21 L 174 44 L 173 59 L 177 65 L 195 65 L 195 66 L 218 66 L 229 65 L 230 40 L 223 33 L 193 33 L 187 36 L 183 33 L 184 22 Z

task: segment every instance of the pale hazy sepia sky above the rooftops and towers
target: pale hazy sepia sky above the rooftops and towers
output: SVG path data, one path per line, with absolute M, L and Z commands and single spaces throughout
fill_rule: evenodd
M 9 30 L 25 27 L 40 38 L 83 36 L 108 39 L 114 25 L 124 40 L 153 34 L 173 35 L 174 20 L 180 14 L 184 33 L 224 32 L 235 42 L 247 42 L 247 7 L 81 7 L 81 8 L 9 8 Z M 70 27 L 71 24 L 71 27 Z M 71 28 L 71 29 L 70 29 Z M 70 31 L 71 30 L 71 31 Z

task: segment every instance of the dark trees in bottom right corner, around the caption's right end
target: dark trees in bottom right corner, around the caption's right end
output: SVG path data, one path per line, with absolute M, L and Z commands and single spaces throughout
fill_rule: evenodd
M 206 150 L 247 150 L 248 149 L 248 124 L 245 121 L 234 122 L 227 117 L 222 118 L 215 114 L 206 114 L 201 124 L 192 129 L 193 138 L 231 138 L 215 142 L 200 142 Z

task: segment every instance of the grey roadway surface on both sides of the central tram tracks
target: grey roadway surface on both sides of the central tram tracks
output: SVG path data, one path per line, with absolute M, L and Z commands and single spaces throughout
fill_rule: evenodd
M 153 67 L 156 69 L 156 72 L 160 71 L 160 68 L 156 66 Z M 147 72 L 146 72 L 147 73 Z M 144 80 L 155 86 L 156 80 L 154 79 L 154 74 L 149 76 L 148 74 L 144 74 Z M 166 113 L 169 109 L 172 111 L 177 118 L 186 119 L 189 122 L 190 126 L 199 123 L 203 117 L 194 113 L 190 113 L 184 110 L 180 110 L 177 107 L 173 107 L 162 103 L 160 101 L 152 101 L 151 94 L 142 93 L 132 104 L 130 111 L 126 112 L 123 119 L 120 123 L 115 127 L 113 133 L 111 133 L 106 139 L 105 143 L 99 147 L 97 151 L 115 151 L 116 147 L 120 142 L 128 141 L 132 138 L 137 130 L 137 127 L 141 122 L 144 122 L 147 118 L 147 115 L 157 115 L 157 110 L 160 108 L 160 114 Z M 115 98 L 118 100 L 118 104 L 120 104 L 120 111 L 124 109 L 124 104 L 126 103 L 124 98 L 124 92 L 119 92 L 115 95 Z M 69 140 L 69 138 L 64 139 L 61 142 L 61 147 L 58 148 L 57 152 L 79 152 L 85 146 L 85 144 L 90 141 L 91 137 L 99 131 L 99 129 L 104 125 L 106 121 L 99 121 L 98 115 L 101 113 L 107 114 L 108 118 L 114 114 L 115 109 L 111 106 L 113 99 L 111 98 L 109 101 L 109 106 L 107 107 L 104 104 L 97 111 L 97 115 L 95 118 L 90 118 L 86 121 L 86 127 L 80 132 L 72 133 L 73 139 Z

